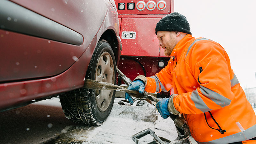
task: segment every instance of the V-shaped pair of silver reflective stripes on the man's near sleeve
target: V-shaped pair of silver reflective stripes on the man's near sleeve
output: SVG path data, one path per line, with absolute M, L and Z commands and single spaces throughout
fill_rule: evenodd
M 204 96 L 210 98 L 215 104 L 218 104 L 221 107 L 225 107 L 231 103 L 230 99 L 202 85 L 200 85 L 200 91 Z M 202 112 L 211 111 L 211 109 L 204 103 L 203 99 L 200 97 L 197 89 L 192 91 L 191 100 L 195 103 L 196 108 L 198 108 Z

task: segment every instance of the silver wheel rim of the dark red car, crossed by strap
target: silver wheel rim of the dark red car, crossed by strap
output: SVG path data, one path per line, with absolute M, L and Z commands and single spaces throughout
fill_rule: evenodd
M 111 55 L 103 52 L 97 63 L 95 80 L 113 83 L 115 82 L 114 64 Z M 113 90 L 96 90 L 95 100 L 100 112 L 105 112 L 112 100 Z

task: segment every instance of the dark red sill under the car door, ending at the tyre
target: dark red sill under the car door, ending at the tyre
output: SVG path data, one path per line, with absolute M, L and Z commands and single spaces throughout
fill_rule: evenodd
M 96 39 L 88 49 L 96 47 Z M 50 78 L 0 84 L 0 109 L 33 99 L 51 96 L 64 91 L 74 90 L 84 85 L 83 77 L 89 64 L 90 51 L 60 75 Z

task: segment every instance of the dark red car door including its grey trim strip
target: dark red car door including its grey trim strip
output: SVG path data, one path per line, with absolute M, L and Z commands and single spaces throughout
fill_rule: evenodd
M 66 71 L 90 45 L 110 4 L 109 0 L 1 3 L 0 82 Z

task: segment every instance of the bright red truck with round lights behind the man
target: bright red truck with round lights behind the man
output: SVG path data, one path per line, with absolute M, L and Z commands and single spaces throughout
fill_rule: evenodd
M 158 46 L 156 23 L 174 11 L 174 0 L 115 0 L 115 3 L 123 45 L 118 69 L 131 80 L 138 75 L 155 75 L 170 60 Z

